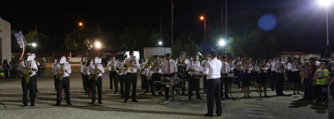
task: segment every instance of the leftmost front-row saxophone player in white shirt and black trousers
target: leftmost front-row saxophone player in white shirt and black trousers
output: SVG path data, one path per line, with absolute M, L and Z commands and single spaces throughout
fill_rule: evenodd
M 30 53 L 26 53 L 24 55 L 24 60 L 20 62 L 19 67 L 17 68 L 18 73 L 22 76 L 21 85 L 23 90 L 23 105 L 21 107 L 25 107 L 28 105 L 28 89 L 30 94 L 30 105 L 35 106 L 35 96 L 36 95 L 36 72 L 37 72 L 37 65 L 34 61 L 27 61 L 28 56 Z M 29 62 L 29 63 L 28 63 Z M 27 66 L 30 67 L 27 69 Z M 32 74 L 28 78 L 28 82 L 26 82 L 26 73 L 27 71 L 31 71 Z

